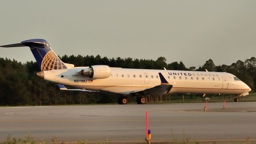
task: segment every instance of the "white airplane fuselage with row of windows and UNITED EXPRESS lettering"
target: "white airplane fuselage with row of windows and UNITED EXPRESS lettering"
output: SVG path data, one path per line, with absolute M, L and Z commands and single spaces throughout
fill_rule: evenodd
M 44 79 L 75 88 L 128 95 L 160 85 L 159 72 L 173 87 L 169 93 L 244 94 L 249 86 L 226 72 L 146 70 L 110 68 L 108 78 L 94 79 L 78 74 L 88 67 L 44 71 Z

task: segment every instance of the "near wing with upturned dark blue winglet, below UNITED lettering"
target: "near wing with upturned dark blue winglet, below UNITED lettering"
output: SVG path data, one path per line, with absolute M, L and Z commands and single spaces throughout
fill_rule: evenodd
M 130 93 L 133 96 L 144 96 L 146 94 L 162 94 L 164 92 L 168 93 L 172 89 L 172 85 L 167 82 L 164 76 L 159 72 L 161 84 L 154 86 L 153 88 L 148 88 L 146 90 L 141 90 L 137 92 Z

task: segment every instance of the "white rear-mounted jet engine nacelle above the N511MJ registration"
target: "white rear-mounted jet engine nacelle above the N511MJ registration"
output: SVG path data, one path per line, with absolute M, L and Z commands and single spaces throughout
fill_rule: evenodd
M 108 78 L 110 77 L 110 67 L 105 65 L 90 66 L 84 70 L 78 72 L 89 78 Z

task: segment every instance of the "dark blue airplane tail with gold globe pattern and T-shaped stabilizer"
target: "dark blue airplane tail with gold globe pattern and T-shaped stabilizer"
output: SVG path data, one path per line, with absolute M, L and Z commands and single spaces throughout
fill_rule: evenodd
M 51 49 L 50 45 L 46 40 L 43 39 L 32 39 L 25 40 L 18 44 L 10 44 L 1 47 L 21 47 L 28 46 L 32 54 L 34 55 L 39 68 L 43 70 L 60 70 L 74 67 L 73 64 L 66 64 L 60 60 L 60 58 Z

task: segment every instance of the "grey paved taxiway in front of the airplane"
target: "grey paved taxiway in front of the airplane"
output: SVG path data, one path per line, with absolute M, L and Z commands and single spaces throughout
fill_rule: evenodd
M 146 110 L 153 141 L 256 139 L 256 102 L 127 104 L 0 108 L 0 141 L 8 135 L 37 140 L 143 142 Z

